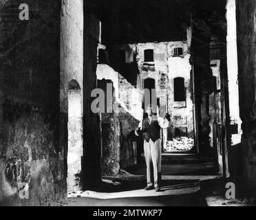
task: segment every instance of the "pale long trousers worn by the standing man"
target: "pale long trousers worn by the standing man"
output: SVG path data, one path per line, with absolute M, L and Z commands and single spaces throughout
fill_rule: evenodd
M 161 140 L 158 139 L 156 142 L 153 142 L 151 139 L 149 142 L 144 140 L 144 153 L 147 164 L 147 186 L 160 187 L 162 161 Z M 153 177 L 151 175 L 152 173 Z

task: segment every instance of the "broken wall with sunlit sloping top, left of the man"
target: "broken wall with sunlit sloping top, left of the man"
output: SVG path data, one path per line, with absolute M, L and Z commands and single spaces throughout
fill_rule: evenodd
M 113 83 L 113 113 L 101 113 L 103 139 L 102 174 L 113 175 L 120 168 L 137 163 L 137 144 L 134 130 L 138 126 L 136 118 L 142 118 L 141 94 L 121 74 L 109 65 L 98 64 L 98 87 L 105 91 L 102 84 Z M 105 80 L 105 83 L 103 82 Z

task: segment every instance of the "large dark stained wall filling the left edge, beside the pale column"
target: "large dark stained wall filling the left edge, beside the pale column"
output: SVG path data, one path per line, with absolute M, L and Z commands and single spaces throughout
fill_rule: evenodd
M 59 130 L 59 27 L 56 1 L 0 4 L 0 203 L 43 206 L 66 196 L 65 148 Z M 28 199 L 18 195 L 26 184 Z

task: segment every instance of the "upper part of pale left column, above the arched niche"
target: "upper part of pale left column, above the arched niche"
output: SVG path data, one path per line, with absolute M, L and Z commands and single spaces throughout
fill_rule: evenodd
M 71 80 L 83 89 L 83 0 L 61 2 L 61 91 L 67 92 Z

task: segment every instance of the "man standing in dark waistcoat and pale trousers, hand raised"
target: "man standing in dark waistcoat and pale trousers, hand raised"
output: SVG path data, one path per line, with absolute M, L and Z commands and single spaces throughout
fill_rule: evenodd
M 165 118 L 153 115 L 153 108 L 149 105 L 146 109 L 147 117 L 144 118 L 135 134 L 139 136 L 139 131 L 143 134 L 144 139 L 144 152 L 147 164 L 147 187 L 145 190 L 156 189 L 160 192 L 160 179 L 161 179 L 161 160 L 162 160 L 162 147 L 160 140 L 160 130 L 167 129 L 170 124 L 170 115 L 167 114 Z M 153 179 L 151 179 L 151 164 L 153 164 Z

